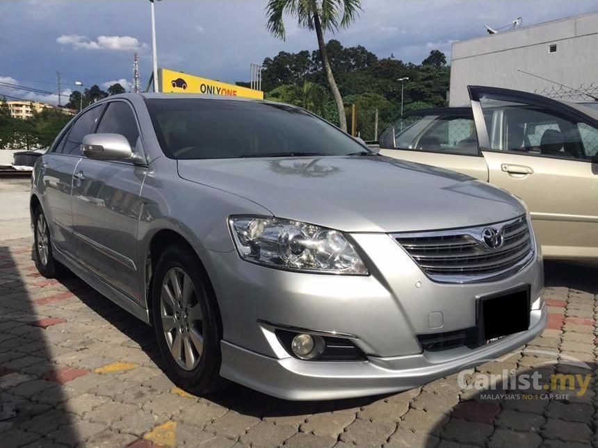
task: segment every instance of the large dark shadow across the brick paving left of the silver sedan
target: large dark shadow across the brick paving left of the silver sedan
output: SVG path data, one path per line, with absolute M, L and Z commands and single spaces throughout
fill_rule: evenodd
M 68 399 L 64 372 L 54 364 L 46 333 L 59 322 L 51 313 L 36 314 L 30 291 L 43 278 L 28 258 L 26 245 L 0 247 L 0 446 L 54 440 L 74 446 L 83 440 L 74 415 L 60 408 Z

